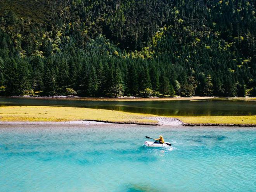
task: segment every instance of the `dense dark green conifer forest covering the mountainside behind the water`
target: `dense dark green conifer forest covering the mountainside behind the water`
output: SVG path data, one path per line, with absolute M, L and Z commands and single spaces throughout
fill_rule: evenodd
M 1 0 L 0 95 L 256 96 L 254 0 Z

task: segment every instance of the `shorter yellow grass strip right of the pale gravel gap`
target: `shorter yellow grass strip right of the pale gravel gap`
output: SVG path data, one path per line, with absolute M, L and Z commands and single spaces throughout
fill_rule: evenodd
M 256 124 L 254 116 L 196 116 L 175 117 L 183 123 L 216 123 L 216 124 Z

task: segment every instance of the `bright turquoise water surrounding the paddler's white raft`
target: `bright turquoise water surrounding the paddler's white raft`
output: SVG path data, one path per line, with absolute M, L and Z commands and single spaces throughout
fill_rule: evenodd
M 173 147 L 143 146 L 159 134 Z M 1 192 L 255 189 L 255 128 L 0 125 Z

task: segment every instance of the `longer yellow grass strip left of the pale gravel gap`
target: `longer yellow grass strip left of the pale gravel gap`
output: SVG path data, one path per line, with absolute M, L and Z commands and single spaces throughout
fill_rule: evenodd
M 157 123 L 157 121 L 145 119 L 149 116 L 147 114 L 78 107 L 0 107 L 0 121 L 77 121 L 86 119 L 110 122 Z

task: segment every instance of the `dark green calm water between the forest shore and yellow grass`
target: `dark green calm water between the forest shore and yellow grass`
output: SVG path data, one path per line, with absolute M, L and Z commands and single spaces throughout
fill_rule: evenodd
M 69 106 L 111 109 L 162 116 L 256 115 L 256 101 L 178 100 L 178 101 L 82 101 L 0 97 L 0 106 Z

